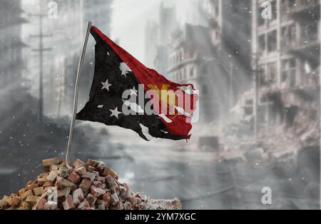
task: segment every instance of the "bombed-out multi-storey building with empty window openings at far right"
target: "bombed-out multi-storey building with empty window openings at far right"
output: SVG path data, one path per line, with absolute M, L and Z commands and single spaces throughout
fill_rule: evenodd
M 307 133 L 320 119 L 320 1 L 271 1 L 271 19 L 263 19 L 262 3 L 252 1 L 258 94 L 253 91 L 248 106 L 257 97 L 261 131 L 282 124 Z

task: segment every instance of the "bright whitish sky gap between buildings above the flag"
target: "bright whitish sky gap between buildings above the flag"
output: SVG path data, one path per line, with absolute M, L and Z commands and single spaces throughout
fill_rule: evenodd
M 144 31 L 147 19 L 158 21 L 161 2 L 175 6 L 178 19 L 185 21 L 194 0 L 116 0 L 113 3 L 112 38 L 143 62 Z

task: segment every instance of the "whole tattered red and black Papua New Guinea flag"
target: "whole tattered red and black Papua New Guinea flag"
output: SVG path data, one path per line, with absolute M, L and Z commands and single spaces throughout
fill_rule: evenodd
M 156 138 L 190 138 L 198 101 L 188 90 L 193 85 L 174 83 L 146 68 L 95 26 L 91 35 L 96 40 L 93 83 L 76 118 L 128 128 L 145 140 L 144 127 Z

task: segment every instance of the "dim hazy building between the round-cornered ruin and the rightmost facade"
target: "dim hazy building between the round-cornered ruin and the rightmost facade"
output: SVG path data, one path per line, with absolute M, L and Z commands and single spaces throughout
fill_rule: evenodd
M 220 89 L 228 96 L 226 101 L 220 101 L 220 119 L 231 123 L 238 120 L 233 108 L 251 86 L 251 3 L 249 0 L 209 0 L 209 3 L 213 57 L 220 65 L 220 70 L 213 73 L 219 73 L 227 82 L 226 88 Z

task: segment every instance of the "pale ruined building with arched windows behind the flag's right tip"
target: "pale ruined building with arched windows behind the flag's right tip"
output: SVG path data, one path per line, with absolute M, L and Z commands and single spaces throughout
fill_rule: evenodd
M 218 121 L 219 102 L 226 100 L 219 90 L 226 82 L 218 75 L 208 28 L 185 24 L 173 33 L 168 52 L 168 78 L 200 90 L 200 123 Z

